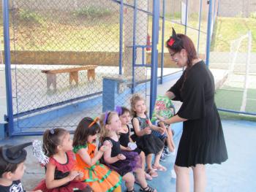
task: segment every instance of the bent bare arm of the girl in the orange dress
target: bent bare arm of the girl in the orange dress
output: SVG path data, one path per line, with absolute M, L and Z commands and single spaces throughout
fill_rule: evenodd
M 87 147 L 78 150 L 78 154 L 80 155 L 80 158 L 82 158 L 86 164 L 88 164 L 89 166 L 93 166 L 94 164 L 96 164 L 97 161 L 99 161 L 99 158 L 102 157 L 104 151 L 107 149 L 108 149 L 107 146 L 102 145 L 102 147 L 100 147 L 99 150 L 94 153 L 93 158 L 91 158 L 89 153 L 87 152 L 87 150 L 88 150 Z

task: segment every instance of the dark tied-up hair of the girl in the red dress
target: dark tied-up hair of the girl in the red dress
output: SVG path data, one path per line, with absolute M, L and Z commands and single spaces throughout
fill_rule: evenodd
M 50 157 L 56 154 L 56 147 L 61 144 L 60 137 L 67 134 L 64 128 L 47 129 L 42 137 L 42 149 L 46 156 Z

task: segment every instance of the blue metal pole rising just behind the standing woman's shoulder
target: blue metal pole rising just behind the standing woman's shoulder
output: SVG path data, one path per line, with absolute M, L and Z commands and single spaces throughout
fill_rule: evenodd
M 208 0 L 208 23 L 207 23 L 207 39 L 206 39 L 206 65 L 209 66 L 210 61 L 210 47 L 211 47 L 211 7 L 212 7 L 212 0 Z

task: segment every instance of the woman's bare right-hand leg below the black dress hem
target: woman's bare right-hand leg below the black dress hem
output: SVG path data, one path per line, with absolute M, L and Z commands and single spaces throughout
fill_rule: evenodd
M 196 164 L 192 166 L 194 176 L 194 191 L 206 191 L 206 166 L 203 164 Z

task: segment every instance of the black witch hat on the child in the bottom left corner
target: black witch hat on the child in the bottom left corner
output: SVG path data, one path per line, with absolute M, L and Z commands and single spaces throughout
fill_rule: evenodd
M 21 145 L 4 145 L 1 150 L 1 155 L 4 161 L 11 164 L 20 164 L 26 159 L 26 150 L 23 148 L 32 145 L 32 142 L 26 142 Z

